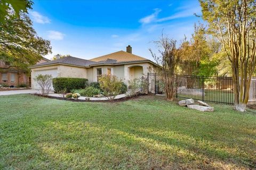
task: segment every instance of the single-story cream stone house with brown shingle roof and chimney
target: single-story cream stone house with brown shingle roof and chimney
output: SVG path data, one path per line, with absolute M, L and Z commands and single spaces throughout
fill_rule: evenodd
M 132 47 L 129 45 L 126 47 L 126 52 L 121 50 L 91 60 L 67 56 L 29 68 L 31 69 L 31 87 L 36 89 L 38 86 L 34 78 L 38 74 L 51 74 L 53 78 L 86 78 L 89 83 L 98 81 L 103 74 L 112 74 L 127 82 L 153 73 L 156 66 L 158 67 L 156 63 L 132 54 Z

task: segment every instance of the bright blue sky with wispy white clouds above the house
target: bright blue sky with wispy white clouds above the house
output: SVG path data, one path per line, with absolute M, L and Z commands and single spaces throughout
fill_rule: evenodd
M 202 20 L 198 1 L 34 1 L 29 12 L 38 35 L 55 54 L 90 59 L 126 50 L 153 60 L 149 48 L 164 34 L 178 43 Z

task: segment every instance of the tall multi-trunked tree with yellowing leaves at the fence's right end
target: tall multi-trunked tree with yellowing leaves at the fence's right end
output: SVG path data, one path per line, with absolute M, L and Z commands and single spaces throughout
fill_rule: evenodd
M 245 111 L 256 65 L 256 1 L 199 0 L 209 32 L 222 43 L 232 67 L 235 108 Z

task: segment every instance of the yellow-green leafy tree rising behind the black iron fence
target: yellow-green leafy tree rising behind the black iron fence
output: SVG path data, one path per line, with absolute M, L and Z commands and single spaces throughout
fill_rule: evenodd
M 203 24 L 196 25 L 192 38 L 183 40 L 178 49 L 180 74 L 211 76 L 217 72 L 217 61 L 212 58 L 212 50 L 206 39 Z

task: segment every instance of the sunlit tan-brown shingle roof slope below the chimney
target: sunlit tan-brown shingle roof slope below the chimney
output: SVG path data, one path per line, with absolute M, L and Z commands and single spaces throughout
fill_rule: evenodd
M 90 61 L 99 62 L 99 61 L 106 61 L 108 59 L 116 60 L 116 62 L 148 61 L 148 59 L 146 58 L 143 58 L 131 53 L 127 53 L 124 51 L 119 51 L 119 52 L 103 55 L 100 57 L 92 58 Z

